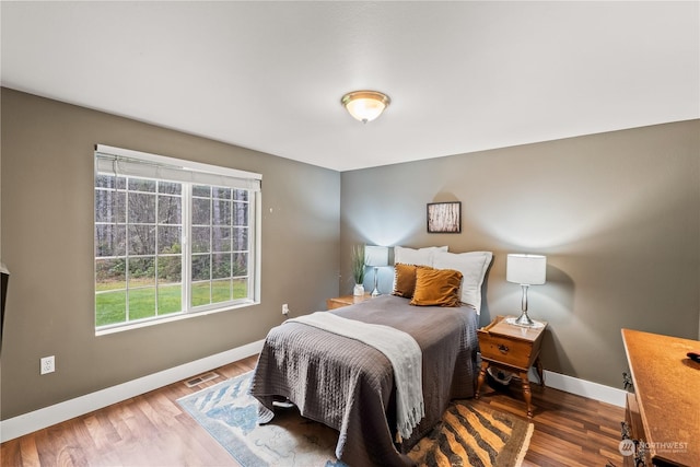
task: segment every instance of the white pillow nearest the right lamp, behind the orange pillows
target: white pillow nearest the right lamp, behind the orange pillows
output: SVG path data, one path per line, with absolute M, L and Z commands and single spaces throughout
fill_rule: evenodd
M 491 252 L 447 253 L 435 252 L 433 268 L 456 269 L 462 272 L 462 302 L 481 313 L 481 284 L 491 264 Z

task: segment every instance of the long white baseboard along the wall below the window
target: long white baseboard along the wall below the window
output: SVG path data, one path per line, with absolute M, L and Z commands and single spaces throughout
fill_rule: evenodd
M 149 390 L 177 383 L 190 376 L 260 353 L 264 340 L 250 342 L 225 352 L 206 357 L 162 372 L 153 373 L 117 386 L 86 394 L 65 402 L 0 421 L 0 442 L 60 423 L 97 409 L 136 397 Z

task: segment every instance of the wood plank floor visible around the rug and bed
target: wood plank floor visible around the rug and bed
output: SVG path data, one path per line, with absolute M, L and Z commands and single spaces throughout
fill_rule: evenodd
M 254 369 L 252 357 L 217 369 L 218 378 L 192 388 L 175 383 L 92 413 L 8 441 L 5 466 L 237 466 L 176 400 Z M 485 385 L 486 386 L 486 385 Z M 520 383 L 490 387 L 475 404 L 522 417 Z M 623 409 L 533 385 L 535 432 L 524 466 L 622 465 L 618 452 Z

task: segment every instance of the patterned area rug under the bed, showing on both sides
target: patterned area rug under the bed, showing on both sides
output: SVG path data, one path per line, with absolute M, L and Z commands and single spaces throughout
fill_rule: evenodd
M 250 382 L 246 373 L 177 401 L 244 467 L 347 467 L 334 455 L 338 432 L 304 419 L 293 407 L 258 425 Z M 459 400 L 409 456 L 420 466 L 516 467 L 532 432 L 532 423 Z

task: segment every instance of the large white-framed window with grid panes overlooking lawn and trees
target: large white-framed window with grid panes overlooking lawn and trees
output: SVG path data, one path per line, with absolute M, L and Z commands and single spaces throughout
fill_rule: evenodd
M 259 303 L 260 179 L 98 145 L 96 330 Z

